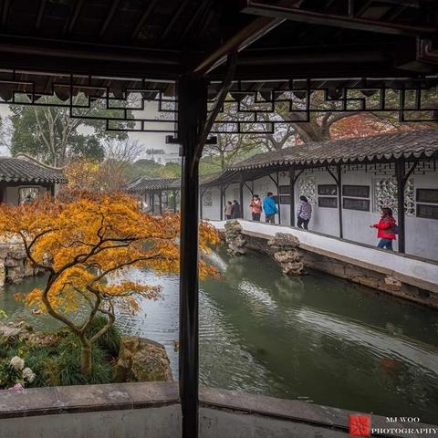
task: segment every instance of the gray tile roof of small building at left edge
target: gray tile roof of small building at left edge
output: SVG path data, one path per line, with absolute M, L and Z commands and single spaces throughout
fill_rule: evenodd
M 17 156 L 0 157 L 0 182 L 67 183 L 67 179 L 61 169 Z

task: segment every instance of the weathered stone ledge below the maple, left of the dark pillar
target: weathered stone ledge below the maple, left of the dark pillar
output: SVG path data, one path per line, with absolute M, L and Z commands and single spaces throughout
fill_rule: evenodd
M 111 383 L 0 391 L 0 419 L 70 412 L 103 412 L 179 403 L 174 381 Z

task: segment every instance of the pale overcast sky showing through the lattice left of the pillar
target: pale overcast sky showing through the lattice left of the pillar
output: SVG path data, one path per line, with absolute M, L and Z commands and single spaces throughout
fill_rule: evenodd
M 145 105 L 147 105 L 147 102 L 145 102 Z M 10 114 L 9 107 L 7 105 L 0 105 L 0 117 L 4 119 Z M 134 117 L 138 114 L 137 117 L 141 118 L 147 118 L 147 119 L 153 119 L 157 114 L 157 109 L 153 103 L 146 106 L 146 110 L 144 111 L 136 111 Z M 104 121 L 102 121 L 104 123 Z M 167 124 L 166 124 L 167 125 Z M 154 124 L 153 129 L 157 129 L 159 126 L 158 123 Z M 172 127 L 172 124 L 169 124 L 169 126 Z M 138 140 L 143 145 L 143 149 L 162 149 L 166 151 L 166 153 L 170 152 L 177 152 L 178 146 L 174 144 L 166 144 L 165 138 L 168 134 L 162 134 L 162 133 L 146 133 L 146 132 L 130 132 L 129 134 L 130 139 L 132 140 Z M 9 151 L 5 147 L 0 146 L 0 155 L 10 155 Z M 146 157 L 146 154 L 143 154 L 139 158 Z

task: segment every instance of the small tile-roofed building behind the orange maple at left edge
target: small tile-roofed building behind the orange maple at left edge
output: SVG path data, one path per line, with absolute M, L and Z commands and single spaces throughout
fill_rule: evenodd
M 67 183 L 61 169 L 47 166 L 25 154 L 0 157 L 0 202 L 17 205 L 43 193 L 57 192 Z

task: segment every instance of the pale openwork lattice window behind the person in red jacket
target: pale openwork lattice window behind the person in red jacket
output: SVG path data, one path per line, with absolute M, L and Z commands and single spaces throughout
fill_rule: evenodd
M 405 214 L 415 214 L 415 195 L 413 179 L 410 178 L 404 189 Z M 378 178 L 374 180 L 373 210 L 378 213 L 381 207 L 390 207 L 397 214 L 397 180 L 395 178 Z

